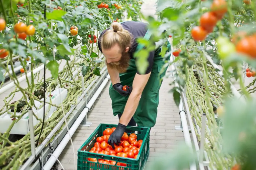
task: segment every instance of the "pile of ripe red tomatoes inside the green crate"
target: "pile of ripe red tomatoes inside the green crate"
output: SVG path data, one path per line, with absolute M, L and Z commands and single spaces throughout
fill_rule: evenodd
M 130 134 L 129 136 L 127 133 L 124 133 L 121 138 L 121 143 L 119 145 L 114 144 L 115 149 L 113 149 L 112 146 L 108 144 L 108 139 L 114 130 L 115 127 L 105 129 L 103 136 L 96 139 L 94 146 L 89 152 L 136 159 L 143 140 L 137 141 L 137 135 L 134 133 Z M 97 159 L 88 158 L 88 161 L 97 162 Z M 99 163 L 126 166 L 125 163 L 116 163 L 116 161 L 103 159 L 99 159 Z

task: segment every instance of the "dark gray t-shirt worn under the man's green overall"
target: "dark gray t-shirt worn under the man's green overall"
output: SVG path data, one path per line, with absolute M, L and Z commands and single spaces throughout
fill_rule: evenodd
M 147 24 L 147 23 L 144 23 L 144 22 L 127 21 L 127 22 L 121 23 L 121 25 L 122 25 L 122 27 L 123 27 L 125 30 L 129 31 L 129 32 L 133 35 L 133 37 L 134 37 L 133 42 L 132 42 L 132 46 L 131 46 L 130 49 L 129 49 L 130 57 L 131 57 L 131 59 L 132 59 L 132 58 L 134 58 L 133 53 L 135 52 L 136 47 L 138 46 L 138 43 L 136 42 L 136 39 L 137 39 L 138 37 L 142 37 L 142 38 L 143 38 L 143 37 L 145 36 L 145 34 L 146 34 L 146 32 L 147 32 L 147 26 L 148 26 L 148 24 Z M 101 51 L 101 53 L 102 53 L 102 50 L 101 50 L 101 42 L 100 42 L 101 36 L 102 36 L 107 30 L 109 30 L 109 29 L 110 29 L 110 28 L 107 28 L 106 30 L 104 30 L 104 31 L 100 34 L 100 36 L 99 36 L 99 38 L 98 38 L 98 47 L 99 47 L 99 50 Z M 149 56 L 148 56 L 148 59 L 147 59 L 149 65 L 148 65 L 147 70 L 146 70 L 146 72 L 145 72 L 144 74 L 148 74 L 148 73 L 151 72 L 152 66 L 153 66 L 153 63 L 154 63 L 154 55 L 155 55 L 155 51 L 151 51 L 150 54 L 149 54 Z M 137 71 L 137 74 L 140 74 L 140 73 Z

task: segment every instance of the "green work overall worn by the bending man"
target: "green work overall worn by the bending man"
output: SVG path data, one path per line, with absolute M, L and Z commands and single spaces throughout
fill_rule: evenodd
M 127 22 L 127 21 L 125 21 Z M 144 36 L 145 40 L 149 40 L 151 34 L 149 31 Z M 167 42 L 167 51 L 171 50 L 170 43 Z M 136 51 L 143 48 L 142 44 L 138 44 Z M 162 85 L 162 81 L 160 82 L 161 78 L 165 76 L 167 68 L 164 72 L 159 76 L 159 72 L 161 68 L 164 66 L 165 62 L 160 55 L 161 49 L 158 48 L 155 51 L 154 56 L 154 64 L 152 67 L 151 75 L 149 80 L 142 92 L 140 102 L 138 104 L 137 110 L 133 115 L 133 119 L 137 123 L 138 126 L 143 127 L 153 127 L 156 123 L 156 116 L 157 116 L 157 107 L 159 103 L 159 89 Z M 170 56 L 166 58 L 167 60 L 170 59 Z M 132 58 L 129 63 L 129 67 L 125 73 L 120 73 L 120 81 L 122 85 L 132 86 L 133 79 L 137 72 L 137 68 L 135 65 L 135 59 Z M 129 96 L 122 96 L 120 95 L 113 87 L 112 83 L 109 87 L 109 95 L 112 100 L 112 109 L 114 116 L 118 114 L 122 114 L 124 111 L 125 104 L 128 100 Z

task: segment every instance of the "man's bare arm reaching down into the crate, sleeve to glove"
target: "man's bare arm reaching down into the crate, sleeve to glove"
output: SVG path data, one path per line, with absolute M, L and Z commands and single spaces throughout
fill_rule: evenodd
M 142 91 L 147 84 L 150 74 L 151 72 L 148 74 L 142 74 L 142 75 L 136 73 L 133 80 L 133 84 L 132 84 L 132 87 L 133 87 L 132 93 L 130 94 L 127 100 L 127 103 L 124 108 L 124 112 L 119 120 L 119 123 L 127 126 L 130 120 L 132 119 L 132 116 L 134 115 L 138 107 Z

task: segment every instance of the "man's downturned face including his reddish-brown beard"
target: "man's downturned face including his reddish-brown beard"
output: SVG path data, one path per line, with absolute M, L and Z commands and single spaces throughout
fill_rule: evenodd
M 121 51 L 121 48 L 118 44 L 115 44 L 110 49 L 103 49 L 102 53 L 105 56 L 105 62 L 110 68 L 117 69 L 120 73 L 126 72 L 126 69 L 129 66 L 130 56 L 129 56 L 129 47 L 125 51 Z

